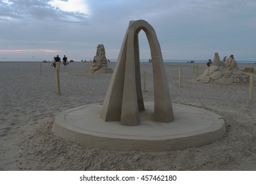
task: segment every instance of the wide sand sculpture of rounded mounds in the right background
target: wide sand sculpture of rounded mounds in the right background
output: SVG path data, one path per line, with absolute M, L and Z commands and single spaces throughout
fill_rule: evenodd
M 226 57 L 220 60 L 218 53 L 215 53 L 213 65 L 207 67 L 197 81 L 199 83 L 209 83 L 209 81 L 213 80 L 215 83 L 220 83 L 221 85 L 230 85 L 233 82 L 239 83 L 246 81 L 245 78 L 247 78 L 247 75 L 238 69 L 236 60 L 226 59 Z

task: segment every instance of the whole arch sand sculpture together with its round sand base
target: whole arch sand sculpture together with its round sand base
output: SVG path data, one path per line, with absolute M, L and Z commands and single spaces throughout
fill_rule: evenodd
M 155 101 L 144 102 L 141 93 L 141 30 L 147 35 L 153 60 Z M 173 104 L 172 108 L 157 36 L 152 26 L 137 20 L 131 21 L 126 31 L 104 104 L 61 112 L 53 132 L 85 147 L 161 151 L 212 143 L 222 139 L 226 127 L 224 120 L 209 110 L 183 104 Z

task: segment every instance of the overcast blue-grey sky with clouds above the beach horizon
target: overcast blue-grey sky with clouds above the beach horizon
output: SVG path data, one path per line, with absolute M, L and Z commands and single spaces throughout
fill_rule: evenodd
M 256 60 L 255 0 L 0 0 L 0 60 L 117 58 L 130 20 L 146 20 L 163 58 Z M 140 32 L 140 57 L 150 58 Z

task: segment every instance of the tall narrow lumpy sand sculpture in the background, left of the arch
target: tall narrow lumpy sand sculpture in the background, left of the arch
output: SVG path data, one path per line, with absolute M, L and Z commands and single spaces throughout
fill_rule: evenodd
M 99 44 L 93 62 L 91 62 L 90 72 L 95 74 L 112 73 L 113 70 L 109 68 L 107 62 L 105 47 L 103 44 Z

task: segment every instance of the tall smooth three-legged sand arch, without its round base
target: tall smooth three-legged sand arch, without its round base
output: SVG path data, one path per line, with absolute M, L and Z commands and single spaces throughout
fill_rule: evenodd
M 124 126 L 137 126 L 139 112 L 145 110 L 141 91 L 138 34 L 147 35 L 153 60 L 154 121 L 174 120 L 161 48 L 155 30 L 145 20 L 130 21 L 116 67 L 109 84 L 100 117 L 106 122 L 120 121 Z

